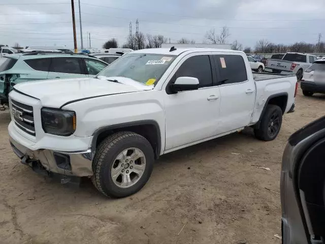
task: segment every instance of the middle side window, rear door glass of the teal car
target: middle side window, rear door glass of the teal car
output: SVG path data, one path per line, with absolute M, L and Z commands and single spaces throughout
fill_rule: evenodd
M 50 72 L 84 74 L 81 58 L 52 57 Z

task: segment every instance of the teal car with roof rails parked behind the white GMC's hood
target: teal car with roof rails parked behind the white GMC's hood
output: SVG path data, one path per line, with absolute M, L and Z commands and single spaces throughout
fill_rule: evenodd
M 8 102 L 15 84 L 32 80 L 93 77 L 108 66 L 87 54 L 27 52 L 0 59 L 0 100 Z

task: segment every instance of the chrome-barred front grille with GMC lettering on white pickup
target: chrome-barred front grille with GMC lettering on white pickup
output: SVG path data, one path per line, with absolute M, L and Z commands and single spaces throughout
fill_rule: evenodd
M 32 106 L 11 100 L 11 113 L 16 126 L 29 135 L 35 136 L 34 113 Z

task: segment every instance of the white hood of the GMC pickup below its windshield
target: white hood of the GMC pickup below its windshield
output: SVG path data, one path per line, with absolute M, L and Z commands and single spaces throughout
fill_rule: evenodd
M 118 80 L 121 83 L 107 79 Z M 24 82 L 14 86 L 14 90 L 39 99 L 43 106 L 50 107 L 60 107 L 75 100 L 151 89 L 153 86 L 147 86 L 125 77 L 54 79 Z

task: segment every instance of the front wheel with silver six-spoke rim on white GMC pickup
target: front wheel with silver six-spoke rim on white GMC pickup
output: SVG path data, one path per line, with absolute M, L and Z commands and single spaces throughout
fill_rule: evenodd
M 136 159 L 138 155 L 141 157 Z M 115 133 L 96 149 L 92 162 L 93 185 L 105 196 L 132 195 L 148 181 L 153 163 L 153 149 L 146 138 L 134 132 Z

